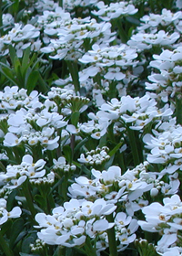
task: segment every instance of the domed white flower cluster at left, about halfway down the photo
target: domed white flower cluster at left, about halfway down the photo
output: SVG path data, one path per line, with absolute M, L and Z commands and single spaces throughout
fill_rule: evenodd
M 8 116 L 8 133 L 5 133 L 4 145 L 14 147 L 24 143 L 35 145 L 41 144 L 46 149 L 55 149 L 58 144 L 59 135 L 56 130 L 66 126 L 63 115 L 57 112 L 48 112 L 52 106 L 48 101 L 45 105 L 37 102 L 35 109 L 25 110 L 21 108 Z

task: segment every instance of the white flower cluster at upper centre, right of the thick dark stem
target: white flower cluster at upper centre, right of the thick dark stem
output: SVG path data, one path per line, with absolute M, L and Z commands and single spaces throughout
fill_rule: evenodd
M 137 61 L 136 50 L 121 46 L 107 47 L 95 44 L 92 50 L 79 59 L 81 63 L 90 64 L 88 68 L 80 73 L 80 81 L 87 80 L 88 77 L 95 77 L 100 73 L 106 80 L 124 80 L 126 78 L 126 69 L 135 67 Z

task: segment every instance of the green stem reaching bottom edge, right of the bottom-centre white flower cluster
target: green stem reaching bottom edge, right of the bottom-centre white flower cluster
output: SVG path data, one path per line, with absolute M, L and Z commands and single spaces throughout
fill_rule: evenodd
M 114 222 L 113 214 L 106 216 L 106 219 L 110 223 Z M 113 227 L 112 229 L 107 229 L 107 236 L 109 244 L 109 256 L 117 256 L 115 227 Z

